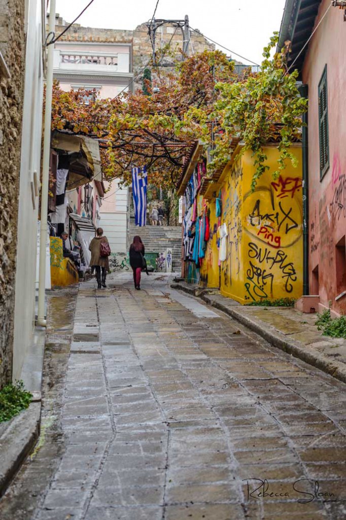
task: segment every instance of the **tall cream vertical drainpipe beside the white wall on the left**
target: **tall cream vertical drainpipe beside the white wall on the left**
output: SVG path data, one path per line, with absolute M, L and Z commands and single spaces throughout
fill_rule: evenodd
M 50 0 L 49 33 L 54 37 L 56 0 Z M 49 42 L 48 42 L 49 43 Z M 46 75 L 46 106 L 45 129 L 43 137 L 43 165 L 41 187 L 41 234 L 39 237 L 39 278 L 38 278 L 38 313 L 37 325 L 46 327 L 45 319 L 45 289 L 46 289 L 46 243 L 47 243 L 47 216 L 48 216 L 48 189 L 49 189 L 49 157 L 50 157 L 50 122 L 51 99 L 53 86 L 54 44 L 48 45 L 47 75 Z

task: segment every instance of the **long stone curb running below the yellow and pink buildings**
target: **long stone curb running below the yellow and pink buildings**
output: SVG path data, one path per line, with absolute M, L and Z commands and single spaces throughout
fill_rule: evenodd
M 237 307 L 241 307 L 241 305 L 237 302 L 230 300 L 229 305 L 224 305 L 223 303 L 217 301 L 217 298 L 213 297 L 214 295 L 210 294 L 208 289 L 203 290 L 202 288 L 187 287 L 187 285 L 182 285 L 180 283 L 173 283 L 170 287 L 172 289 L 184 291 L 191 296 L 200 297 L 211 307 L 216 307 L 252 331 L 259 334 L 261 337 L 263 337 L 264 340 L 268 341 L 274 347 L 280 348 L 280 350 L 283 350 L 287 354 L 291 354 L 292 356 L 305 361 L 305 363 L 308 363 L 309 365 L 322 370 L 326 374 L 331 375 L 333 378 L 346 383 L 346 367 L 343 365 L 343 363 L 330 360 L 326 356 L 316 353 L 315 350 L 313 350 L 311 347 L 302 345 L 302 343 L 298 341 L 287 341 L 280 333 L 274 333 L 270 330 L 263 329 L 259 323 L 251 320 L 249 317 L 244 316 L 241 312 L 236 310 Z M 233 302 L 233 304 L 231 302 Z

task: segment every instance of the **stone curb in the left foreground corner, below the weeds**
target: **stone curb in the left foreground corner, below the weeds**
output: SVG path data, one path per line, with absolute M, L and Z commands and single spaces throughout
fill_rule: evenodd
M 39 436 L 41 402 L 14 417 L 0 437 L 0 497 L 10 485 Z

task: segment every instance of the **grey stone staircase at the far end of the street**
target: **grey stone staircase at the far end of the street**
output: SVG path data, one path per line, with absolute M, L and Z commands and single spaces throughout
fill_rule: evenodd
M 139 235 L 148 253 L 161 253 L 167 248 L 172 250 L 172 270 L 181 271 L 181 227 L 145 226 L 136 227 L 135 218 L 130 218 L 129 243 Z

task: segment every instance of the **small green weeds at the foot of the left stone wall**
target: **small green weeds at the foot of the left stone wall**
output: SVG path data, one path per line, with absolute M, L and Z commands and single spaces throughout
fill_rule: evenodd
M 17 413 L 28 408 L 32 394 L 24 389 L 23 381 L 9 383 L 0 391 L 0 423 L 9 421 Z

